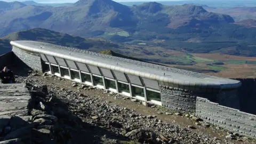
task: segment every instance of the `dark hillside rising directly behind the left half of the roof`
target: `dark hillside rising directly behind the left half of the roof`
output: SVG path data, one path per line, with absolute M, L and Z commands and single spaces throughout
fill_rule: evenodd
M 82 37 L 71 36 L 68 34 L 58 33 L 57 31 L 47 30 L 43 28 L 33 28 L 29 30 L 18 31 L 0 38 L 0 41 L 2 42 L 2 45 L 4 47 L 10 47 L 9 42 L 17 40 L 47 42 L 97 52 L 102 50 L 127 49 L 127 47 L 122 44 L 117 44 L 95 38 L 85 39 Z

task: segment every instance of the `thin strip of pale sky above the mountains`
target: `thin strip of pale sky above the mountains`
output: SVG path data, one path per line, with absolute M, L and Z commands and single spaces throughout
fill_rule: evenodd
M 0 0 L 1 1 L 1 0 Z M 13 2 L 15 0 L 2 0 L 5 2 Z M 19 2 L 22 1 L 33 1 L 33 0 L 16 0 Z M 78 0 L 34 0 L 37 3 L 75 3 Z M 157 2 L 157 1 L 182 1 L 182 0 L 114 0 L 116 2 Z

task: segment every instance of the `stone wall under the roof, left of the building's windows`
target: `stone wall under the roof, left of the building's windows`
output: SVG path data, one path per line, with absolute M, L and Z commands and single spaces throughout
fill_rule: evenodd
M 19 63 L 20 65 L 25 64 L 32 69 L 42 71 L 42 63 L 39 54 L 23 51 L 14 46 L 12 51 L 17 56 L 15 63 Z

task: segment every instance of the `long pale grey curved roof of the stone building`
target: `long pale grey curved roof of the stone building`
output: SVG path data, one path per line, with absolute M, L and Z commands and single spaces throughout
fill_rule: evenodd
M 52 55 L 54 57 L 121 71 L 126 74 L 155 79 L 159 82 L 164 82 L 166 86 L 178 85 L 179 88 L 188 86 L 207 87 L 207 89 L 234 89 L 241 85 L 240 81 L 233 79 L 204 75 L 192 71 L 118 58 L 49 43 L 36 41 L 12 41 L 11 45 L 26 51 Z M 163 73 L 165 73 L 165 75 L 163 75 Z

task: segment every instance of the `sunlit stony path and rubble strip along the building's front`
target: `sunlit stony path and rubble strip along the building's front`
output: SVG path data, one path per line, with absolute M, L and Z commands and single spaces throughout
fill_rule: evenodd
M 177 114 L 177 111 L 154 105 L 144 106 L 142 102 L 132 101 L 120 94 L 75 84 L 51 75 L 34 73 L 27 76 L 27 71 L 15 74 L 19 75 L 18 82 L 47 85 L 49 92 L 65 102 L 73 114 L 94 126 L 87 127 L 94 137 L 90 143 L 131 143 L 131 139 L 125 139 L 123 135 L 138 129 L 155 132 L 160 135 L 156 140 L 166 143 L 255 143 L 255 140 L 247 137 L 227 139 L 226 130 L 193 121 L 189 118 L 193 114 Z

